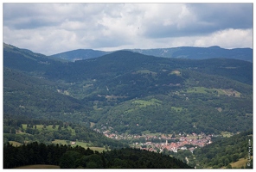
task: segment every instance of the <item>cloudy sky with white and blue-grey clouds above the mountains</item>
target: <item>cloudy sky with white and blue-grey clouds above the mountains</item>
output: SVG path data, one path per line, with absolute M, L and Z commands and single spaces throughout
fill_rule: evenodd
M 253 3 L 3 3 L 3 42 L 74 49 L 253 48 Z

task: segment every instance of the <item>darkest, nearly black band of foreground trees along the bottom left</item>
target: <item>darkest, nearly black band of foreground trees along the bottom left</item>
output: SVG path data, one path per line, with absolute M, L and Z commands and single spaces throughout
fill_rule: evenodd
M 163 154 L 131 148 L 92 151 L 80 146 L 59 144 L 3 145 L 3 168 L 28 164 L 60 165 L 61 169 L 192 169 L 186 163 Z

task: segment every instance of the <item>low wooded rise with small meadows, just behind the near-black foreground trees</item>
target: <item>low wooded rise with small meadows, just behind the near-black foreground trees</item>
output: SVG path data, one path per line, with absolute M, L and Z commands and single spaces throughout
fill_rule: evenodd
M 23 127 L 22 125 L 26 125 Z M 39 129 L 37 126 L 42 126 Z M 48 130 L 46 127 L 53 129 Z M 72 130 L 74 132 L 72 132 Z M 18 133 L 18 132 L 22 132 Z M 107 146 L 109 149 L 127 147 L 128 144 L 112 138 L 106 138 L 102 133 L 95 132 L 86 126 L 80 126 L 75 123 L 67 123 L 58 120 L 18 120 L 8 118 L 3 119 L 3 143 L 16 141 L 21 144 L 38 142 L 52 144 L 55 139 L 69 141 L 82 141 L 90 143 L 95 147 Z

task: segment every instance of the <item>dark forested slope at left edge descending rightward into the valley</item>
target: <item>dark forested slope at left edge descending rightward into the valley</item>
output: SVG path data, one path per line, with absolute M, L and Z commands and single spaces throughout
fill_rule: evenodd
M 58 90 L 63 88 L 65 86 L 59 83 L 3 67 L 3 112 L 24 119 L 44 120 L 69 120 L 72 117 L 63 114 L 88 112 L 86 104 L 60 94 Z

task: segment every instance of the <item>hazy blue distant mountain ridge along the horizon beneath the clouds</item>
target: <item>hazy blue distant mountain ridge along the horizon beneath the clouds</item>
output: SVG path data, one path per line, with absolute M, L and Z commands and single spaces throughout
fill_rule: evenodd
M 189 58 L 189 59 L 207 59 L 207 58 L 234 58 L 253 62 L 253 49 L 251 48 L 234 48 L 225 49 L 220 46 L 195 47 L 180 46 L 171 48 L 154 48 L 154 49 L 125 49 L 125 51 L 138 52 L 144 55 L 163 57 L 163 58 Z M 52 55 L 54 58 L 66 59 L 69 61 L 99 58 L 100 56 L 112 52 L 104 52 L 93 49 L 78 49 L 68 52 L 61 52 Z

